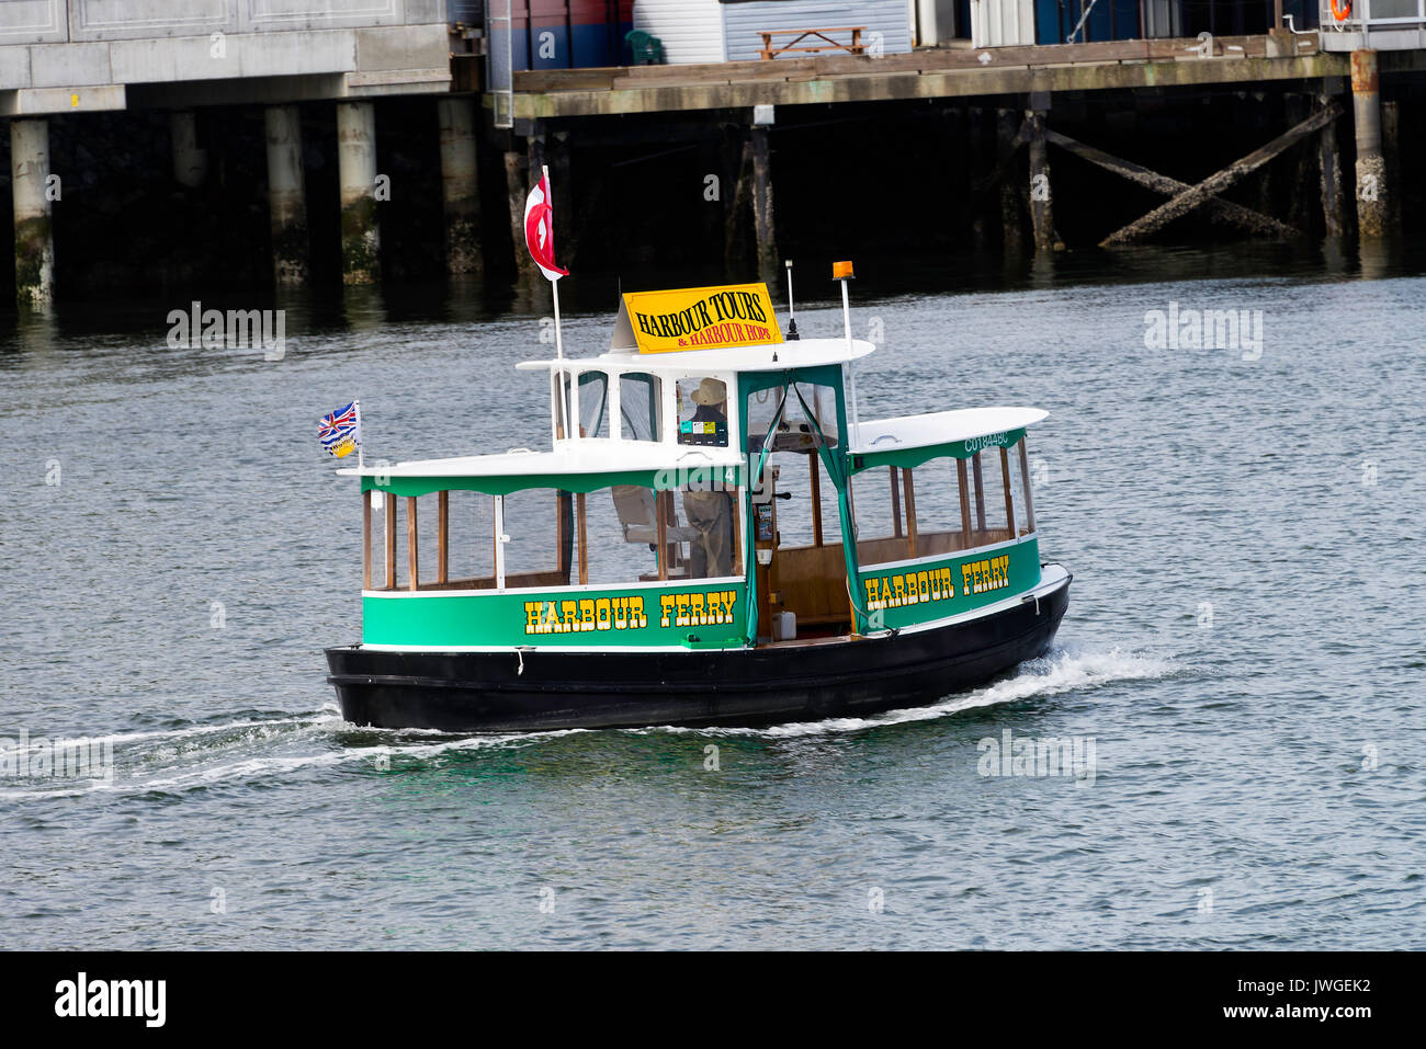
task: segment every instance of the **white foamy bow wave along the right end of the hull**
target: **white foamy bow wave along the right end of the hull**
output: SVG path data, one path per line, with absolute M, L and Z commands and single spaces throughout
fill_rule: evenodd
M 973 707 L 991 707 L 997 703 L 1015 703 L 1035 696 L 1058 696 L 1068 691 L 1098 688 L 1114 681 L 1141 681 L 1168 677 L 1179 670 L 1172 660 L 1125 653 L 1118 647 L 1108 651 L 1071 646 L 1055 648 L 1048 656 L 1022 663 L 1014 677 L 975 688 L 970 693 L 948 696 L 928 707 L 907 707 L 873 717 L 833 717 L 823 721 L 794 721 L 770 728 L 679 728 L 663 725 L 662 733 L 699 733 L 706 735 L 760 735 L 764 738 L 793 738 L 800 735 L 827 735 L 833 733 L 856 733 L 881 725 L 896 725 L 906 721 L 933 721 L 947 714 L 955 714 Z

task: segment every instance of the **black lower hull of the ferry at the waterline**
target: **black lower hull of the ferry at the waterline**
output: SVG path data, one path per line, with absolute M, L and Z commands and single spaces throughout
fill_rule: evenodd
M 1070 577 L 1038 601 L 965 623 L 733 651 L 372 651 L 328 648 L 342 717 L 381 728 L 526 731 L 767 725 L 917 707 L 1042 654 Z

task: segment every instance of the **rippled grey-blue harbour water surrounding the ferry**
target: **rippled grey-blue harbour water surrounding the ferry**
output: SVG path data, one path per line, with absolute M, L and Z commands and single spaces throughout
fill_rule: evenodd
M 539 306 L 299 302 L 275 362 L 170 349 L 175 304 L 0 321 L 0 737 L 114 757 L 0 778 L 0 945 L 1422 946 L 1426 279 L 1132 258 L 863 286 L 864 418 L 1051 412 L 1070 613 L 935 707 L 759 731 L 342 723 L 359 512 L 315 420 L 359 395 L 371 455 L 538 446 Z M 1171 302 L 1261 309 L 1261 355 L 1147 348 Z M 983 775 L 1007 730 L 1092 741 L 1092 782 Z

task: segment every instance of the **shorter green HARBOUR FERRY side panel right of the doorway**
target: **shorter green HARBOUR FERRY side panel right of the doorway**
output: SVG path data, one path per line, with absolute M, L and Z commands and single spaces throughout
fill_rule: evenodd
M 1005 559 L 995 563 L 997 559 Z M 940 573 L 940 574 L 938 574 Z M 1027 536 L 1011 546 L 970 550 L 901 566 L 873 566 L 857 574 L 858 596 L 876 629 L 910 627 L 960 616 L 1040 583 L 1040 540 Z M 868 587 L 868 582 L 874 586 Z M 914 582 L 914 586 L 913 586 Z

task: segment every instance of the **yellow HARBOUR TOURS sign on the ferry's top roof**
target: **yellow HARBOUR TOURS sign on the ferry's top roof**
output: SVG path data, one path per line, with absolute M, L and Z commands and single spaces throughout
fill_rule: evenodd
M 632 291 L 619 304 L 610 349 L 670 353 L 783 341 L 766 284 Z

